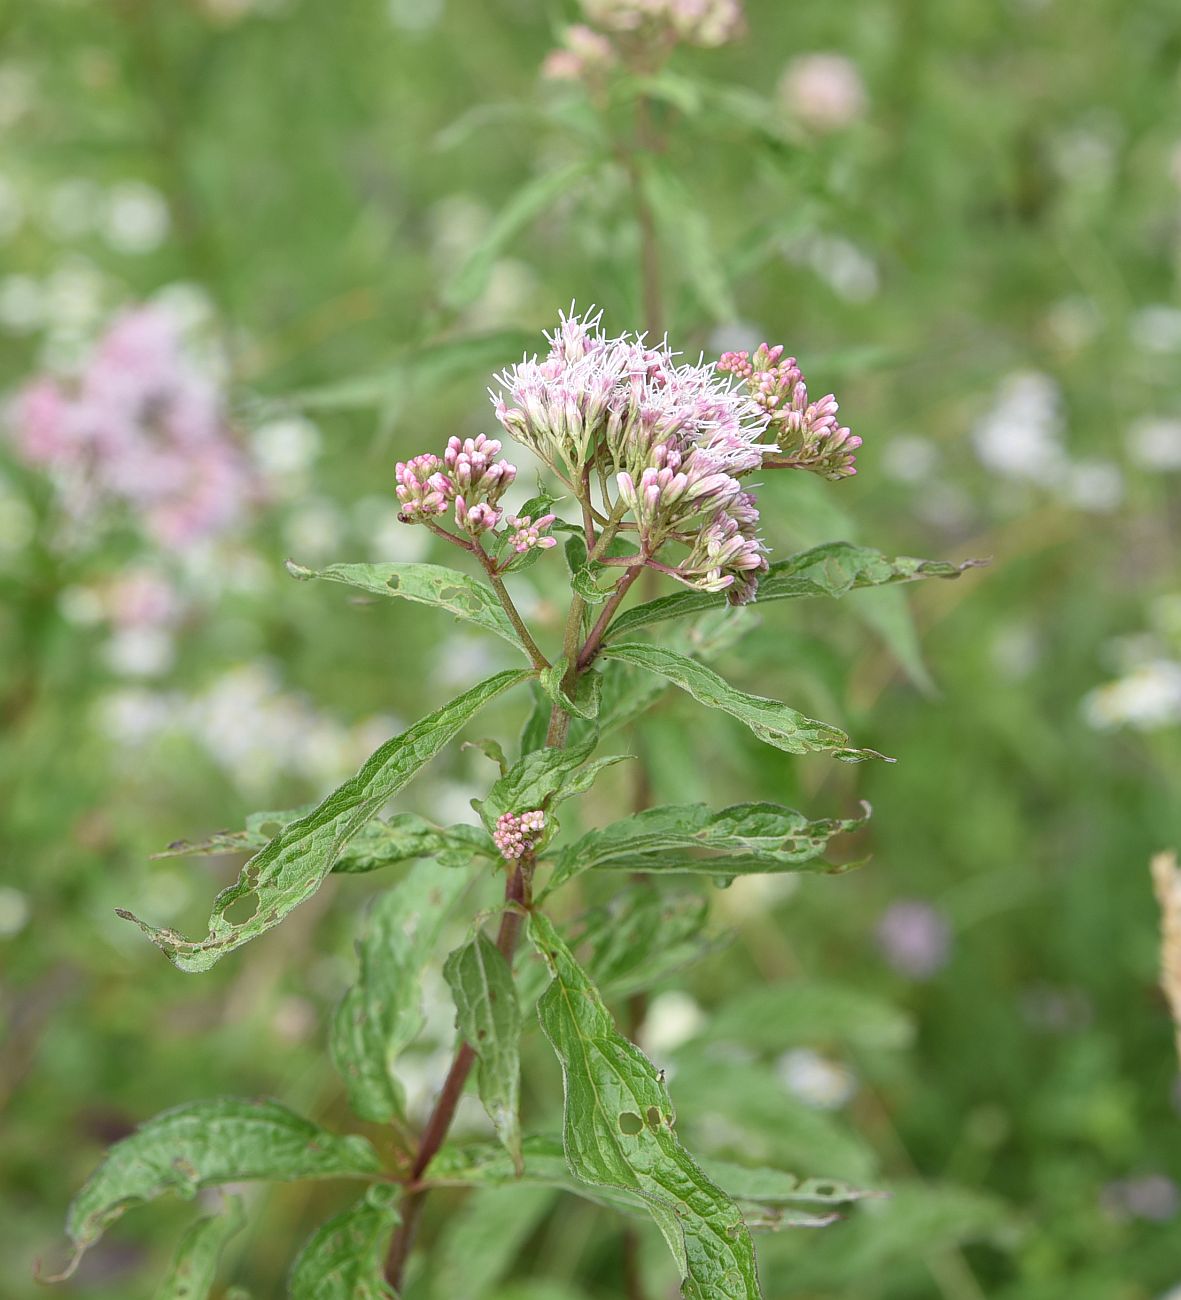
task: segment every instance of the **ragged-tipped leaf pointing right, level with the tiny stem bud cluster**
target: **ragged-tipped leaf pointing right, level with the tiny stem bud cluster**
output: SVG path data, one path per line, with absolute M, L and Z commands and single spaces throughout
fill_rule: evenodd
M 558 855 L 553 885 L 580 871 L 688 871 L 711 876 L 839 870 L 823 862 L 835 835 L 869 818 L 809 820 L 779 803 L 736 803 L 714 812 L 705 803 L 670 803 L 589 831 Z M 551 887 L 553 887 L 551 885 Z

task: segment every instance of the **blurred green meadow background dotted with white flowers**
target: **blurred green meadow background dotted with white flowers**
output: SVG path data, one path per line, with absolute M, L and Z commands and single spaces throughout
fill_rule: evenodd
M 1181 12 L 749 0 L 748 17 L 748 39 L 680 52 L 649 87 L 671 338 L 783 341 L 865 439 L 852 481 L 767 485 L 776 555 L 845 537 L 992 564 L 905 601 L 769 607 L 719 664 L 896 766 L 788 759 L 687 699 L 649 715 L 659 801 L 875 812 L 861 871 L 715 894 L 719 944 L 657 996 L 645 1043 L 698 1147 L 894 1192 L 766 1239 L 769 1297 L 1181 1294 L 1147 875 L 1181 842 Z M 69 372 L 121 308 L 163 303 L 263 484 L 234 528 L 164 551 L 126 521 L 70 528 L 0 442 L 5 1296 L 34 1294 L 73 1192 L 156 1112 L 273 1095 L 350 1123 L 324 1024 L 384 881 L 330 883 L 199 978 L 113 909 L 198 931 L 237 864 L 151 853 L 316 797 L 501 662 L 434 612 L 297 585 L 282 560 L 432 554 L 395 523 L 394 460 L 492 433 L 490 373 L 572 299 L 641 324 L 626 177 L 580 168 L 610 152 L 602 118 L 538 75 L 575 18 L 529 0 L 0 9 L 0 386 Z M 786 75 L 816 52 L 860 78 L 840 125 L 809 121 Z M 559 569 L 518 584 L 546 634 Z M 121 612 L 129 571 L 166 588 L 166 616 Z M 484 731 L 518 725 L 510 705 Z M 631 797 L 617 771 L 585 818 Z M 470 818 L 489 776 L 455 753 L 399 807 Z M 419 1108 L 450 1050 L 441 983 L 427 992 Z M 544 1044 L 527 1069 L 551 1123 Z M 347 1196 L 252 1190 L 226 1284 L 280 1295 Z M 506 1197 L 440 1199 L 411 1297 L 619 1294 L 609 1214 Z M 191 1213 L 130 1214 L 64 1292 L 151 1295 Z M 496 1244 L 480 1278 L 447 1248 L 464 1217 Z M 659 1240 L 643 1248 L 671 1295 Z

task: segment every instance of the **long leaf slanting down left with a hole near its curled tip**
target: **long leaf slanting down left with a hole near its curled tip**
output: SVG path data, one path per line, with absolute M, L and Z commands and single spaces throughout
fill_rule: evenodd
M 238 880 L 213 901 L 209 933 L 185 939 L 172 930 L 156 930 L 129 911 L 134 920 L 182 971 L 206 971 L 226 953 L 277 926 L 310 898 L 339 861 L 350 841 L 382 805 L 451 740 L 486 703 L 529 677 L 528 672 L 498 672 L 449 705 L 388 740 L 360 771 L 337 786 L 307 816 L 284 827 L 243 867 Z M 254 898 L 252 913 L 241 920 L 226 916 L 239 900 Z

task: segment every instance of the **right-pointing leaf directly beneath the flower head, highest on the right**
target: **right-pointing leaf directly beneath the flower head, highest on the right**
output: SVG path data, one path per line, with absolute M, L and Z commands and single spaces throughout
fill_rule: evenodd
M 965 560 L 962 564 L 949 564 L 946 560 L 912 559 L 909 555 L 890 558 L 869 546 L 827 542 L 773 564 L 758 581 L 756 603 L 795 601 L 809 595 L 842 597 L 857 588 L 913 582 L 923 577 L 959 577 L 983 563 L 986 562 Z M 626 610 L 611 624 L 607 638 L 626 636 L 665 619 L 723 608 L 724 604 L 724 593 L 676 592 Z

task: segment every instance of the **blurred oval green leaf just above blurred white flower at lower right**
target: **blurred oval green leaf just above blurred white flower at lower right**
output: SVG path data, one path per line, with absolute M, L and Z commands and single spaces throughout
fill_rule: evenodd
M 895 1050 L 914 1040 L 914 1023 L 892 1002 L 848 984 L 793 979 L 754 985 L 715 1008 L 704 1028 L 710 1041 L 782 1050 L 839 1043 Z

